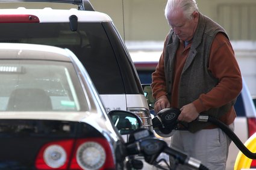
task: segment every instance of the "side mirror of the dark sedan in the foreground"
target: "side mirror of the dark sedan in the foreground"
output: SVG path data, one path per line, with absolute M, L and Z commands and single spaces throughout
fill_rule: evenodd
M 128 135 L 142 126 L 140 118 L 127 111 L 110 111 L 108 112 L 112 123 L 119 131 L 120 135 Z

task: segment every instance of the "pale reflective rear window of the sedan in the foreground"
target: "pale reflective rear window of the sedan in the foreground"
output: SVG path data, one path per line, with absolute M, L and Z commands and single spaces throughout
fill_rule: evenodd
M 69 62 L 2 60 L 0 111 L 85 111 L 88 106 Z

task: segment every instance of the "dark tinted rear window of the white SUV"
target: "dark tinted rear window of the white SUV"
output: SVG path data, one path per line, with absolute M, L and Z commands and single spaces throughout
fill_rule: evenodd
M 54 16 L 53 16 L 54 17 Z M 124 94 L 119 65 L 101 23 L 0 23 L 0 42 L 47 44 L 72 50 L 86 67 L 99 94 Z

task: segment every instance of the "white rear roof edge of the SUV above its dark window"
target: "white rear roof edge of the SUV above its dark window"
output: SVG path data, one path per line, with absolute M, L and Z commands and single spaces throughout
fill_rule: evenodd
M 98 11 L 81 11 L 76 8 L 69 10 L 59 10 L 52 8 L 43 9 L 27 9 L 24 7 L 19 7 L 15 9 L 0 9 L 0 16 L 8 15 L 34 15 L 39 18 L 40 23 L 45 22 L 69 22 L 69 17 L 75 15 L 78 17 L 78 22 L 112 22 L 111 18 L 105 14 Z M 1 22 L 1 19 L 0 19 Z

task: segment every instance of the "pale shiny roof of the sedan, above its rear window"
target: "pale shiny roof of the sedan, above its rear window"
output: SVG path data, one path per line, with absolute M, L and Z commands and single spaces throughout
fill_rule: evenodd
M 0 43 L 1 59 L 47 59 L 70 61 L 69 52 L 60 47 L 41 44 Z

